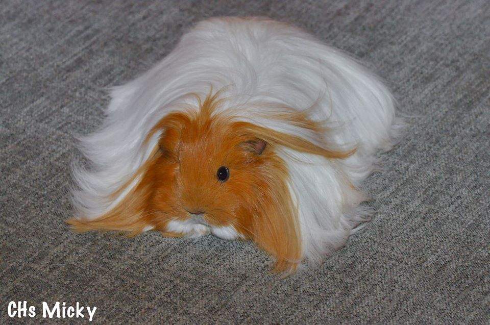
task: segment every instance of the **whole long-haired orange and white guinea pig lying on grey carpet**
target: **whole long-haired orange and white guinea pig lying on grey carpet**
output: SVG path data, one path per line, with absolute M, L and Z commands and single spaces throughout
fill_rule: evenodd
M 266 18 L 197 24 L 80 139 L 76 231 L 252 240 L 292 272 L 344 244 L 402 126 L 374 74 Z

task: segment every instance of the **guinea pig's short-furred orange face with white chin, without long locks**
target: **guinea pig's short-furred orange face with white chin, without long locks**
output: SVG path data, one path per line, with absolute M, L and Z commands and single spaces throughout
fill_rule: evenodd
M 158 228 L 251 238 L 254 206 L 268 191 L 274 152 L 219 116 L 178 113 L 163 123 L 161 156 L 149 170 L 154 186 L 148 211 Z

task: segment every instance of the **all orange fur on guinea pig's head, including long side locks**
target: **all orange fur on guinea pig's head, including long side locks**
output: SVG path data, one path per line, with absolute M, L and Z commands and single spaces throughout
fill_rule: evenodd
M 277 271 L 293 271 L 301 262 L 297 207 L 288 187 L 288 171 L 276 148 L 327 158 L 352 152 L 329 151 L 300 137 L 280 133 L 215 113 L 216 93 L 199 101 L 198 112 L 176 112 L 162 118 L 147 140 L 162 131 L 158 147 L 124 186 L 139 181 L 113 209 L 96 219 L 70 219 L 76 231 L 117 230 L 137 234 L 148 227 L 166 236 L 170 220 L 203 214 L 210 227 L 232 226 L 276 257 Z M 298 114 L 298 113 L 291 113 Z M 282 114 L 309 128 L 305 116 Z M 216 171 L 226 166 L 230 177 L 219 182 Z

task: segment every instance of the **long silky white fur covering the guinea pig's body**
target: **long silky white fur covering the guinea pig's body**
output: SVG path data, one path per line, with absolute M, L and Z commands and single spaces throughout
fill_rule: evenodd
M 160 63 L 113 88 L 102 128 L 80 138 L 92 166 L 74 168 L 77 216 L 100 216 L 124 197 L 130 188 L 115 200 L 108 198 L 155 146 L 158 134 L 142 146 L 146 134 L 171 111 L 197 109 L 190 93 L 204 98 L 211 86 L 224 89 L 220 97 L 226 100 L 218 113 L 323 147 L 357 146 L 345 160 L 287 148 L 278 152 L 288 166 L 291 195 L 299 208 L 303 257 L 316 262 L 344 244 L 356 224 L 369 216 L 359 206 L 364 194 L 351 184 L 357 187 L 369 175 L 375 153 L 394 144 L 402 121 L 374 74 L 300 29 L 266 18 L 200 22 Z M 284 107 L 327 120 L 330 131 L 318 135 L 271 117 Z

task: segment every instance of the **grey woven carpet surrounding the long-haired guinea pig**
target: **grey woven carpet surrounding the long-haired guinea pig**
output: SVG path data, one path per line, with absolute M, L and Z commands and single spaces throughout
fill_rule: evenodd
M 216 15 L 306 28 L 367 62 L 415 116 L 365 183 L 374 220 L 285 280 L 250 243 L 79 235 L 63 222 L 82 160 L 73 135 L 100 126 L 104 89 Z M 486 0 L 3 1 L 0 108 L 0 323 L 45 320 L 43 301 L 96 306 L 96 323 L 490 322 Z M 36 317 L 9 318 L 24 300 Z

